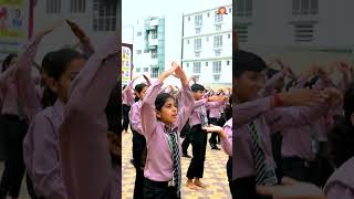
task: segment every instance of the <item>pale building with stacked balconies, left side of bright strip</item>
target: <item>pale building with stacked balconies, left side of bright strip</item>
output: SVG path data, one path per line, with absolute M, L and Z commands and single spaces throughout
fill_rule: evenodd
M 158 77 L 165 71 L 165 18 L 137 20 L 133 32 L 134 75 Z

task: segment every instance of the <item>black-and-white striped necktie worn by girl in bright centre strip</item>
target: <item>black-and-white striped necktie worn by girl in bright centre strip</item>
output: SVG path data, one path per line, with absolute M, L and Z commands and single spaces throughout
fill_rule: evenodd
M 179 157 L 179 147 L 177 139 L 177 128 L 169 128 L 167 130 L 168 136 L 168 146 L 173 154 L 174 160 L 174 172 L 173 172 L 173 186 L 177 189 L 177 196 L 179 196 L 180 184 L 181 184 L 181 168 L 180 168 L 180 157 Z

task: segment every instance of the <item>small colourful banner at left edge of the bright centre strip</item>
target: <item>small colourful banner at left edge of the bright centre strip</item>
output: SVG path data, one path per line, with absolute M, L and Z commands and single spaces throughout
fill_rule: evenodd
M 133 72 L 133 45 L 122 44 L 122 85 L 132 80 Z

